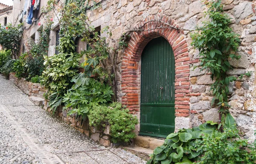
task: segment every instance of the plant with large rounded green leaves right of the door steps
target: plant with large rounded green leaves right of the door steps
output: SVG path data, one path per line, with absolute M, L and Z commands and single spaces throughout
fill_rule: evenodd
M 202 136 L 217 129 L 212 121 L 192 129 L 180 129 L 166 137 L 164 144 L 157 147 L 147 164 L 192 164 L 202 154 Z

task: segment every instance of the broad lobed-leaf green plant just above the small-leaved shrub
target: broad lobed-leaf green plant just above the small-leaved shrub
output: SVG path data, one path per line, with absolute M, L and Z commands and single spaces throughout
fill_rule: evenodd
M 111 101 L 111 87 L 88 78 L 86 85 L 76 88 L 76 85 L 64 94 L 64 109 L 72 107 L 69 114 L 77 113 L 85 118 L 94 105 L 106 104 Z

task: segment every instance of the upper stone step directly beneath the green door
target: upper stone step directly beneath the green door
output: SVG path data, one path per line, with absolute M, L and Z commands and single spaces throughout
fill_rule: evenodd
M 137 136 L 134 139 L 134 144 L 138 147 L 144 147 L 146 149 L 154 150 L 156 147 L 163 145 L 164 139 L 157 139 L 145 136 Z

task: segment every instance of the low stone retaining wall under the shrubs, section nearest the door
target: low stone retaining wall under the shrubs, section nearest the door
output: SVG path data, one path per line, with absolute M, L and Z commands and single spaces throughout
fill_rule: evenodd
M 50 113 L 53 113 L 47 101 L 44 102 L 44 109 Z M 68 115 L 68 112 L 68 109 L 63 110 L 63 106 L 59 106 L 58 109 L 56 109 L 54 115 L 60 118 L 65 123 L 69 124 L 71 127 L 74 127 L 81 133 L 84 133 L 88 137 L 92 138 L 93 141 L 99 142 L 99 144 L 102 144 L 105 147 L 109 147 L 111 145 L 109 125 L 107 125 L 105 128 L 91 127 L 89 125 L 88 118 L 86 118 L 85 120 L 82 120 L 81 118 L 76 119 L 76 115 Z

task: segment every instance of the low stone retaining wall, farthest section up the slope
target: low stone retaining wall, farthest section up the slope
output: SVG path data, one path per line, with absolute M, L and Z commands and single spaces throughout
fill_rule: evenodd
M 40 83 L 32 83 L 26 81 L 24 78 L 15 77 L 15 73 L 11 73 L 9 80 L 13 81 L 24 93 L 32 97 L 44 98 L 45 89 Z

